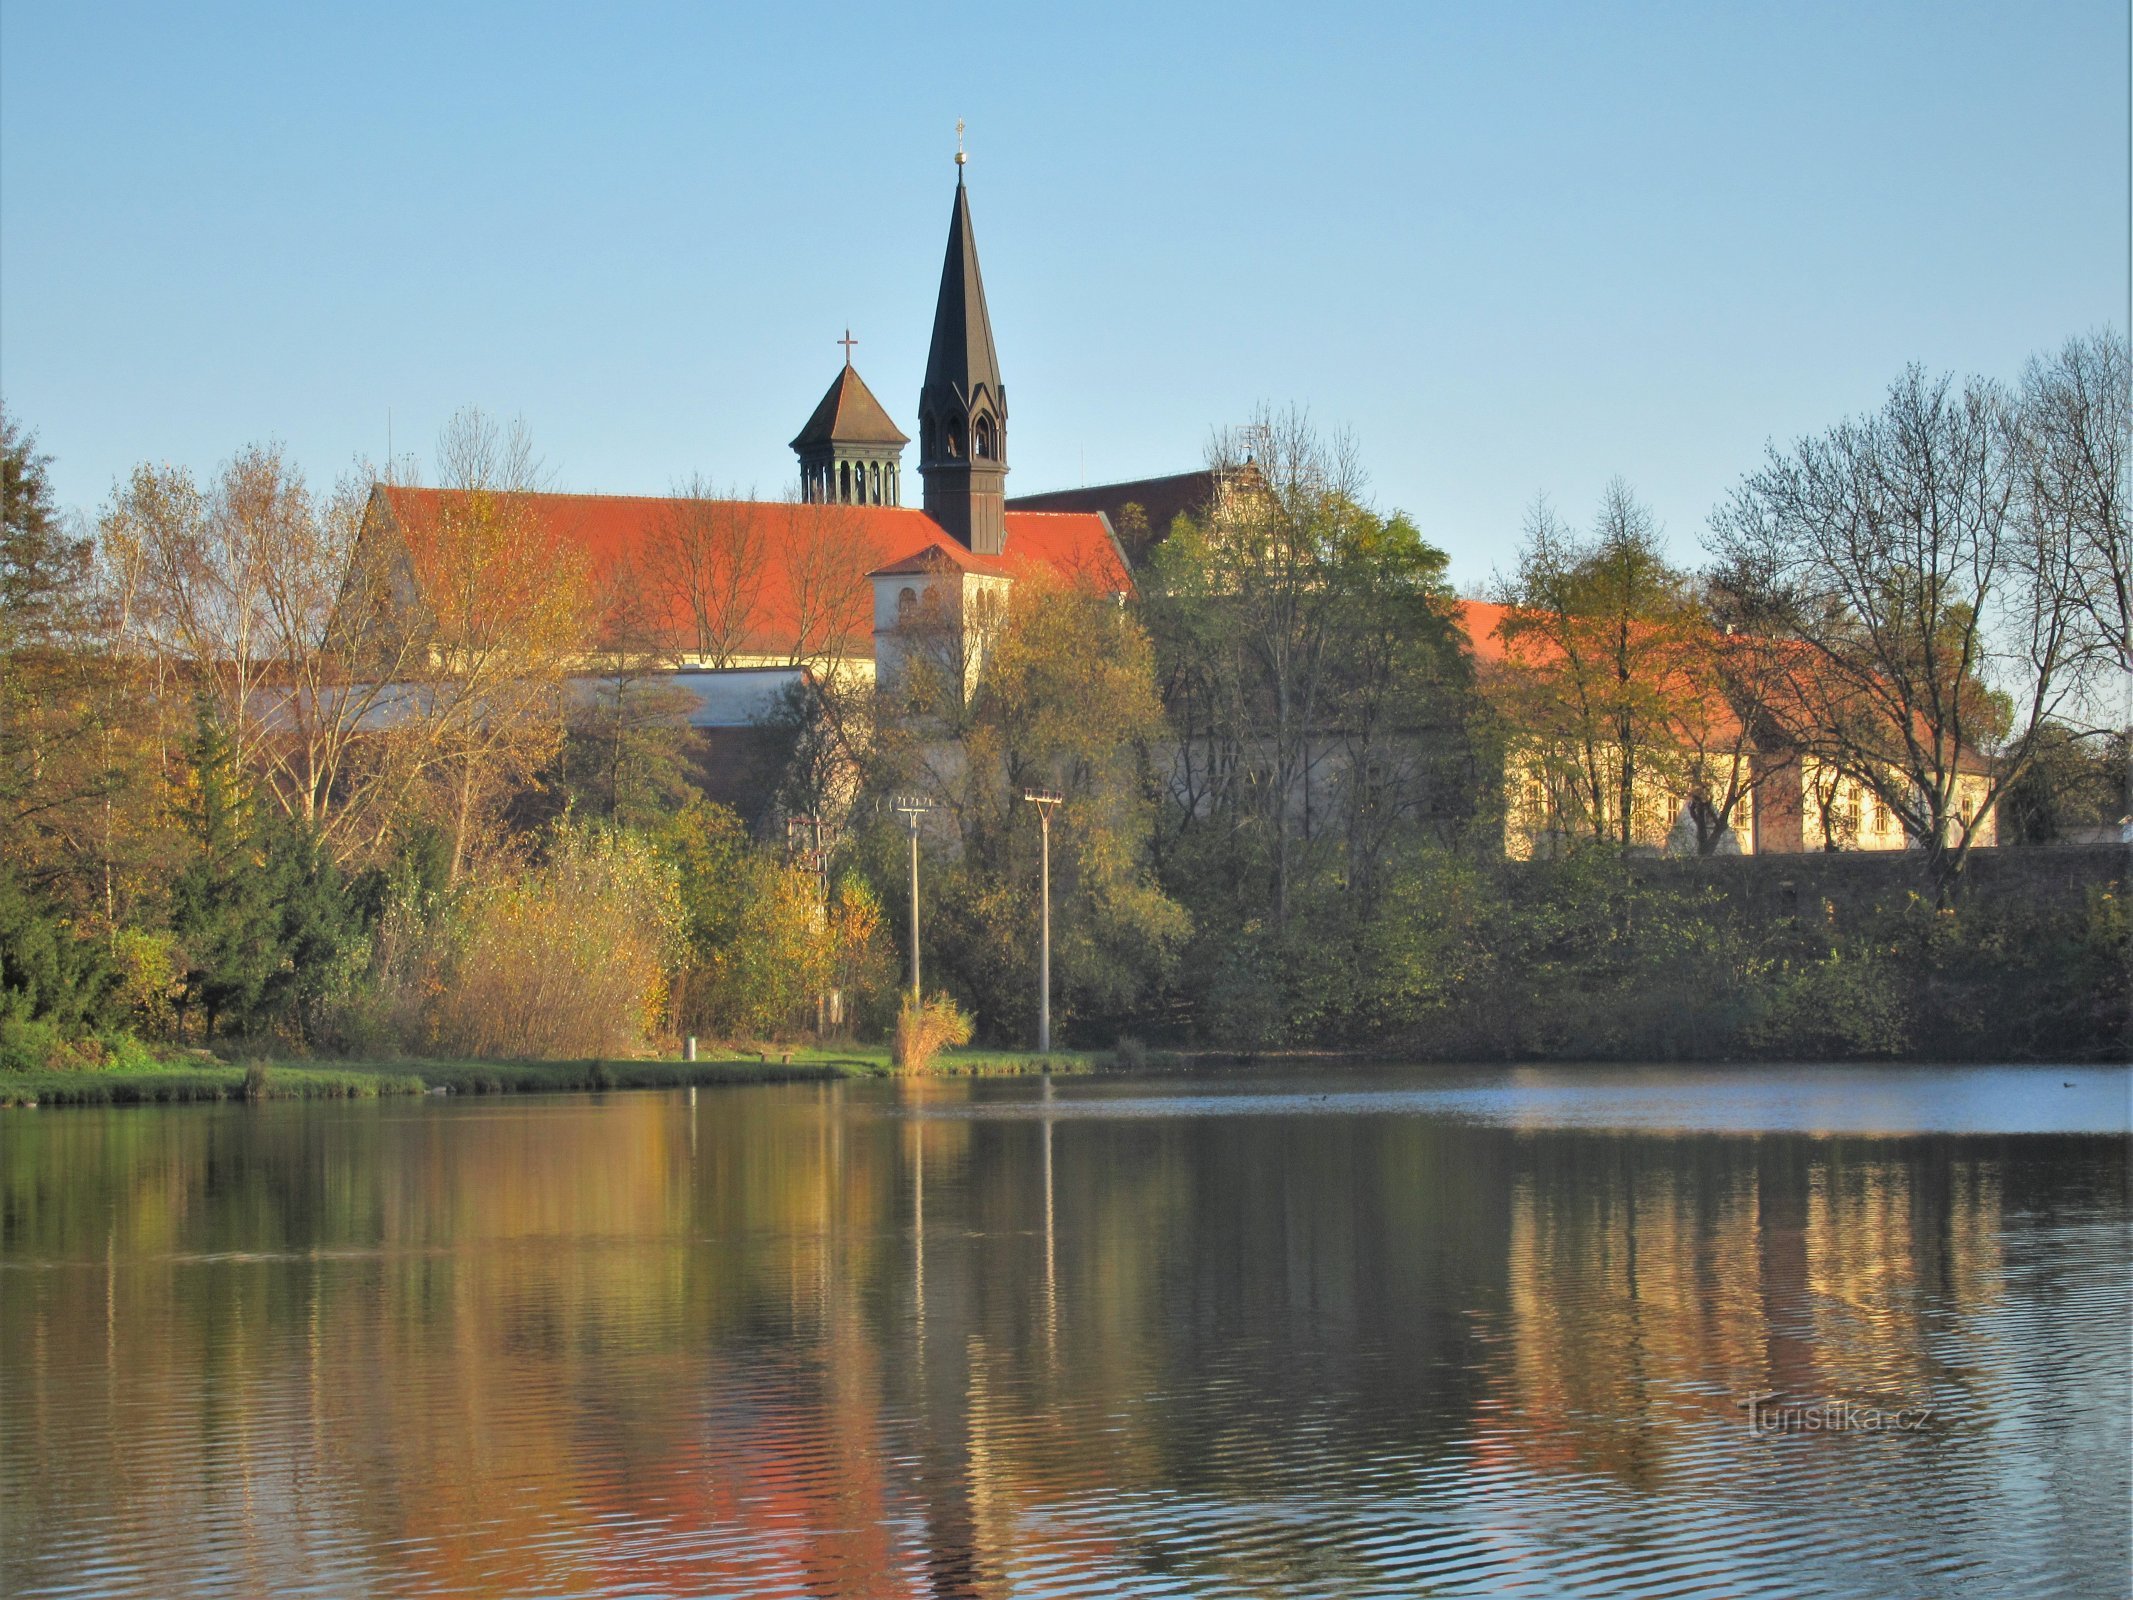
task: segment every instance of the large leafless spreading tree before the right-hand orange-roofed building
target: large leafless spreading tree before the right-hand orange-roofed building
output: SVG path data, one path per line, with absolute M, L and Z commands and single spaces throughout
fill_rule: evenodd
M 1903 821 L 1943 898 L 2084 683 L 2084 602 L 2050 580 L 2071 531 L 2035 548 L 2020 497 L 2007 397 L 1911 367 L 1873 416 L 1770 446 L 1711 523 L 1726 585 L 1790 646 L 1773 719 Z

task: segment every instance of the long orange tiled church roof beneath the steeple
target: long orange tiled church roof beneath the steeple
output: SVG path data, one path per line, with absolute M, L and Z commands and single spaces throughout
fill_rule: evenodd
M 405 531 L 433 521 L 461 491 L 378 484 L 373 506 Z M 546 531 L 582 550 L 597 582 L 623 580 L 646 602 L 651 623 L 680 649 L 695 638 L 687 599 L 661 582 L 661 546 L 676 512 L 725 529 L 732 544 L 757 550 L 757 582 L 738 646 L 747 655 L 787 657 L 813 649 L 802 631 L 823 634 L 806 610 L 834 593 L 838 617 L 828 631 L 864 649 L 875 631 L 866 574 L 885 561 L 943 550 L 971 572 L 1013 576 L 1030 565 L 1101 593 L 1128 593 L 1133 578 L 1103 518 L 1094 512 L 1007 512 L 1007 553 L 979 557 L 926 512 L 911 506 L 804 506 L 789 501 L 676 501 L 663 495 L 527 495 Z M 723 521 L 721 521 L 723 518 Z M 744 538 L 740 538 L 744 535 Z M 808 599 L 813 595 L 813 599 Z

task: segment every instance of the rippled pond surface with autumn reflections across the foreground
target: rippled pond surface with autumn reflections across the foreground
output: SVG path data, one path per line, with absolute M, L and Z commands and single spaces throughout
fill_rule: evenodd
M 1593 1069 L 9 1111 L 0 1594 L 2127 1594 L 2127 1101 Z

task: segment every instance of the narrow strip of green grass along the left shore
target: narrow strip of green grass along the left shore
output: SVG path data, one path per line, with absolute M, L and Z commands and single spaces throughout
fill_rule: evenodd
M 1088 1073 L 1101 1052 L 951 1050 L 934 1060 L 934 1077 L 1013 1077 Z M 796 1045 L 723 1050 L 702 1060 L 392 1060 L 392 1062 L 267 1062 L 239 1067 L 188 1058 L 158 1067 L 6 1071 L 0 1105 L 139 1105 L 158 1101 L 241 1099 L 369 1099 L 375 1094 L 538 1094 L 608 1088 L 687 1088 L 693 1084 L 806 1084 L 834 1077 L 887 1077 L 881 1047 Z

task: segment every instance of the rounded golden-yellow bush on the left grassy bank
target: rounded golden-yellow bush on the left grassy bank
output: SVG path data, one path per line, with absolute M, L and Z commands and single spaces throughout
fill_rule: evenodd
M 559 826 L 548 860 L 454 911 L 429 1037 L 454 1056 L 627 1056 L 657 1030 L 680 956 L 674 873 L 627 834 Z

